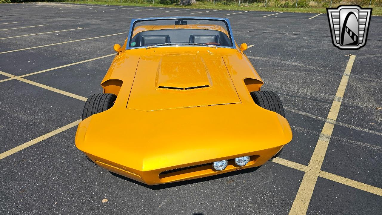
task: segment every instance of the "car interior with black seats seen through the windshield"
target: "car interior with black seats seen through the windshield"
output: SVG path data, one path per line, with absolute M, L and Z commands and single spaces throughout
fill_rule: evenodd
M 135 42 L 135 43 L 134 43 Z M 200 43 L 232 46 L 227 34 L 210 29 L 160 29 L 136 34 L 129 47 L 154 46 L 163 43 Z

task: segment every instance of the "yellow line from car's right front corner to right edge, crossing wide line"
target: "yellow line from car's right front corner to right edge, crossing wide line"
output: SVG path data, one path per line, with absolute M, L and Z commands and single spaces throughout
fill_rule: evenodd
M 303 171 L 303 172 L 309 171 L 309 166 L 302 165 L 302 164 L 299 164 L 299 163 L 296 163 L 293 161 L 285 160 L 283 158 L 274 158 L 272 160 L 272 162 L 278 163 L 280 165 L 287 166 L 287 167 L 290 167 L 293 169 L 297 169 L 297 170 Z M 372 194 L 382 196 L 382 189 L 379 187 L 374 187 L 374 186 L 371 186 L 369 184 L 364 184 L 362 182 L 354 181 L 352 179 L 348 179 L 348 178 L 338 176 L 336 174 L 328 173 L 328 172 L 325 172 L 322 170 L 320 170 L 319 176 L 321 178 L 326 178 L 326 179 L 329 179 L 331 181 L 338 182 L 340 184 L 345 184 L 347 186 L 354 187 L 354 188 L 359 189 L 361 191 L 366 191 L 366 192 L 370 192 Z

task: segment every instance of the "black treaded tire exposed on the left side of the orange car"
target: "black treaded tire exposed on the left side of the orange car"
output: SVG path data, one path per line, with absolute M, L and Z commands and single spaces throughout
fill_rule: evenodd
M 117 99 L 117 96 L 112 93 L 97 93 L 91 95 L 86 100 L 84 111 L 82 112 L 82 120 L 111 108 L 115 99 Z

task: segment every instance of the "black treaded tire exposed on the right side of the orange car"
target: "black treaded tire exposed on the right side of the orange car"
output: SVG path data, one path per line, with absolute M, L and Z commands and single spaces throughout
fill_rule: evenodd
M 253 91 L 250 94 L 258 106 L 285 117 L 283 104 L 276 93 L 272 91 Z

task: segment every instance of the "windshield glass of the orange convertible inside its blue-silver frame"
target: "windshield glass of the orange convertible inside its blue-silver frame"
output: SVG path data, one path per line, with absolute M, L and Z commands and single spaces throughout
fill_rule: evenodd
M 129 47 L 233 46 L 224 20 L 143 20 L 132 29 Z

